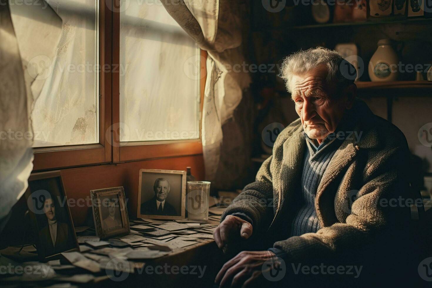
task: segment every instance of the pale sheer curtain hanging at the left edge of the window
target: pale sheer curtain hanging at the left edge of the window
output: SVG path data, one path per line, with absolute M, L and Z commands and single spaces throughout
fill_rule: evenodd
M 11 0 L 0 5 L 0 231 L 12 206 L 27 189 L 33 168 L 29 119 L 44 79 L 39 77 L 43 71 L 29 60 L 38 55 L 54 57 L 61 31 L 61 19 L 45 2 L 35 0 L 31 4 L 16 5 Z M 25 25 L 13 22 L 11 10 L 27 19 Z

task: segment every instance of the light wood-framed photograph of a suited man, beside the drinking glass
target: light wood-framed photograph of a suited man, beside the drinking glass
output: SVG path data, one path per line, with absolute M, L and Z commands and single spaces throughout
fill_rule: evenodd
M 184 219 L 186 171 L 140 169 L 138 218 Z

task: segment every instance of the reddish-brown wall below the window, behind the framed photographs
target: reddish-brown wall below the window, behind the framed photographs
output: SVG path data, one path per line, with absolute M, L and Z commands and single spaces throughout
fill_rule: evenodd
M 166 169 L 186 170 L 191 166 L 197 180 L 204 180 L 203 155 L 161 158 L 120 164 L 98 165 L 61 170 L 68 199 L 71 199 L 70 211 L 75 226 L 92 224 L 91 206 L 87 205 L 90 190 L 123 186 L 127 198 L 127 210 L 130 218 L 137 215 L 137 193 L 139 170 Z M 78 199 L 82 199 L 77 202 Z M 78 205 L 78 203 L 80 205 Z M 26 203 L 22 197 L 13 207 L 13 214 L 0 235 L 0 247 L 19 245 L 31 241 L 29 222 L 24 219 Z M 87 218 L 87 219 L 86 219 Z M 87 220 L 87 222 L 86 222 Z M 90 221 L 90 223 L 88 223 Z

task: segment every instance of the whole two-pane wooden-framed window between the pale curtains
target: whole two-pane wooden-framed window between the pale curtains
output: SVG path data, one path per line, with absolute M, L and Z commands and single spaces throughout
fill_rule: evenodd
M 34 171 L 202 154 L 206 52 L 160 2 L 49 4 L 63 25 L 32 112 Z

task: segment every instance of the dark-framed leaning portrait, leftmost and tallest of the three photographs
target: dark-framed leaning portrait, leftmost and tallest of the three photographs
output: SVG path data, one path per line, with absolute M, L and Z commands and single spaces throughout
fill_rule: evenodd
M 62 252 L 79 251 L 60 171 L 31 174 L 25 199 L 41 260 L 59 259 Z

